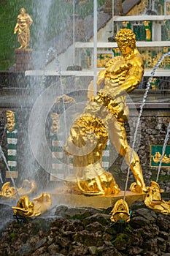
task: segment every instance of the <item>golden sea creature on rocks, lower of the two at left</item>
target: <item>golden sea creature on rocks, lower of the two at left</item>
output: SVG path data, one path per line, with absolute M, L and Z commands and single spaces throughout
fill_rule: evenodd
M 52 205 L 50 194 L 42 193 L 39 197 L 29 200 L 28 195 L 23 195 L 18 200 L 17 206 L 12 206 L 17 217 L 36 217 L 49 210 Z

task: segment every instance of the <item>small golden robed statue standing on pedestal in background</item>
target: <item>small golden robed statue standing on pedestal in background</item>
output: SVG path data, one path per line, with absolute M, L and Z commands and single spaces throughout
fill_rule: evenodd
M 33 23 L 33 20 L 24 8 L 20 9 L 20 15 L 18 15 L 18 21 L 14 29 L 14 34 L 18 32 L 18 42 L 20 43 L 19 49 L 26 50 L 30 42 L 30 29 L 29 27 Z

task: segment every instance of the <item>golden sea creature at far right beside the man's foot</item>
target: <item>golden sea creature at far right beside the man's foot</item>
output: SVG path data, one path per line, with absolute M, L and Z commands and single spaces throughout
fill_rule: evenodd
M 163 192 L 163 189 L 160 189 L 158 183 L 151 181 L 150 187 L 148 187 L 147 195 L 144 199 L 144 203 L 153 211 L 157 211 L 165 215 L 170 215 L 170 201 L 166 202 L 162 200 L 161 192 Z

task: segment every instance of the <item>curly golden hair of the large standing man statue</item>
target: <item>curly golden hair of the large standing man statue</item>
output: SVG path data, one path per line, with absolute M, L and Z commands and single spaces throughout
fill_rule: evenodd
M 136 35 L 131 29 L 120 29 L 116 34 L 116 42 L 128 41 L 131 48 L 136 44 Z

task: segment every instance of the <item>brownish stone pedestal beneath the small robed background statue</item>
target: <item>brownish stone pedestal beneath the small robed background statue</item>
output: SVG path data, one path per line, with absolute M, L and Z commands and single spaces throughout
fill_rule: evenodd
M 32 60 L 33 49 L 15 49 L 16 55 L 16 66 L 15 71 L 26 71 L 33 69 L 33 60 Z

